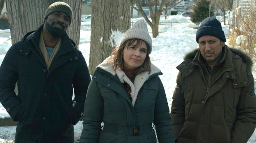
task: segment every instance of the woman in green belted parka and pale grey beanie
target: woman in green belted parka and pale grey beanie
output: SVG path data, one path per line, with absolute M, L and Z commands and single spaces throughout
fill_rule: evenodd
M 141 19 L 97 66 L 79 143 L 156 143 L 153 126 L 159 143 L 174 143 L 162 73 L 150 62 L 151 52 L 152 40 Z

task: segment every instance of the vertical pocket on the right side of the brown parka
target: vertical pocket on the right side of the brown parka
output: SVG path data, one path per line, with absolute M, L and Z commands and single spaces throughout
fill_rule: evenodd
M 232 123 L 233 121 L 233 101 L 234 97 L 231 91 L 224 91 L 224 117 L 225 121 Z

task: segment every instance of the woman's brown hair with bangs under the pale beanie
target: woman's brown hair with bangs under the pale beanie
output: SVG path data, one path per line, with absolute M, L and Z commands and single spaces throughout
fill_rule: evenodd
M 120 46 L 118 46 L 117 48 L 115 48 L 112 51 L 112 53 L 110 54 L 110 56 L 113 56 L 113 58 L 110 58 L 107 61 L 107 64 L 113 62 L 115 68 L 122 70 L 123 69 L 123 50 L 133 43 L 135 46 L 140 46 L 142 43 L 145 43 L 147 46 L 147 55 L 146 55 L 145 61 L 143 62 L 143 64 L 141 66 L 139 66 L 134 71 L 134 74 L 138 75 L 142 71 L 148 71 L 150 73 L 151 72 L 151 62 L 150 62 L 149 50 L 148 50 L 149 45 L 141 39 L 129 39 L 129 40 L 125 41 L 123 44 L 121 44 Z

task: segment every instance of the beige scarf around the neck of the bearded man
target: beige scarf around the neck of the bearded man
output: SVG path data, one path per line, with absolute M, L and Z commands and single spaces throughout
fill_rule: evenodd
M 55 46 L 54 50 L 53 50 L 53 53 L 51 55 L 51 57 L 49 58 L 48 56 L 48 52 L 45 48 L 45 44 L 44 44 L 44 38 L 43 38 L 43 33 L 41 32 L 41 36 L 40 36 L 40 40 L 39 40 L 39 48 L 44 56 L 44 60 L 45 60 L 45 63 L 46 63 L 46 66 L 47 68 L 49 69 L 50 66 L 51 66 L 51 63 L 53 61 L 53 58 L 54 56 L 57 54 L 57 52 L 59 51 L 60 49 L 60 46 L 61 46 L 61 39 L 58 41 L 57 45 Z

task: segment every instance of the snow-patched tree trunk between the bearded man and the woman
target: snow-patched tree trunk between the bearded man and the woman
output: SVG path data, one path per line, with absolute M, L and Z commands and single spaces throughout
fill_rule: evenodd
M 89 71 L 105 60 L 119 46 L 120 32 L 131 27 L 130 0 L 93 0 Z M 117 40 L 117 38 L 119 40 Z

